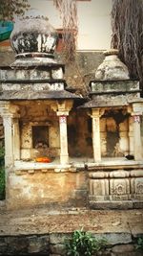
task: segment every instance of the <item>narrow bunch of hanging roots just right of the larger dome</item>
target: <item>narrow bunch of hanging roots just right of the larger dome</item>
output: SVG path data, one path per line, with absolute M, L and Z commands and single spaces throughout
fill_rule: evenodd
M 77 3 L 76 0 L 53 0 L 63 20 L 63 44 L 66 62 L 72 62 L 76 53 Z

